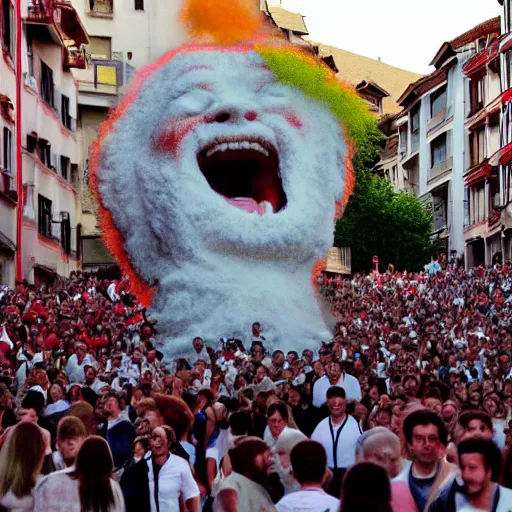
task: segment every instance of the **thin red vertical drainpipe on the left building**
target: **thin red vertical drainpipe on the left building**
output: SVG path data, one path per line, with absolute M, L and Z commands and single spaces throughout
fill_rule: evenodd
M 23 232 L 23 169 L 21 158 L 21 0 L 15 0 L 16 19 L 16 189 L 18 208 L 16 210 L 16 280 L 23 280 L 22 232 Z

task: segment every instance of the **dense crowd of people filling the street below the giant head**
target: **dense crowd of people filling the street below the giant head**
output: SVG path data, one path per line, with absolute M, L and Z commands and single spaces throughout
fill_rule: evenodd
M 1 288 L 0 509 L 512 510 L 512 268 L 318 287 L 333 339 L 175 360 L 125 278 Z

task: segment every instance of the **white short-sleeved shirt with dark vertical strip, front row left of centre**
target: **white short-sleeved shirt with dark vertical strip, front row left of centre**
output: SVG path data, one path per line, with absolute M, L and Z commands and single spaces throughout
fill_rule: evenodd
M 148 479 L 151 512 L 156 512 L 155 473 L 153 461 L 148 459 Z M 192 476 L 189 463 L 176 455 L 170 455 L 158 474 L 158 502 L 163 512 L 180 512 L 180 494 L 187 502 L 199 496 L 199 487 Z

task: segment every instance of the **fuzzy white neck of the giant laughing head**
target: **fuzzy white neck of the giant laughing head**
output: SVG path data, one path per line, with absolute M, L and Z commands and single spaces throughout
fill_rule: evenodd
M 150 314 L 165 333 L 160 339 L 166 350 L 186 355 L 196 336 L 214 347 L 221 337 L 233 336 L 247 348 L 255 321 L 262 324 L 266 345 L 283 350 L 311 347 L 332 337 L 333 325 L 328 325 L 311 285 L 311 265 L 215 256 L 209 263 L 218 263 L 216 267 L 192 262 L 160 281 Z

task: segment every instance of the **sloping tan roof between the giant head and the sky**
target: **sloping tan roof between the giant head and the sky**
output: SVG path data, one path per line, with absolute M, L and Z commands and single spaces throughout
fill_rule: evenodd
M 384 62 L 347 52 L 334 46 L 327 46 L 321 43 L 313 44 L 318 45 L 320 57 L 333 56 L 336 67 L 339 69 L 337 76 L 340 79 L 352 84 L 354 87 L 366 80 L 367 82 L 377 84 L 380 88 L 387 91 L 389 97 L 384 98 L 382 101 L 384 114 L 399 112 L 401 109 L 397 103 L 398 98 L 411 82 L 415 82 L 422 77 L 418 73 L 396 68 Z

